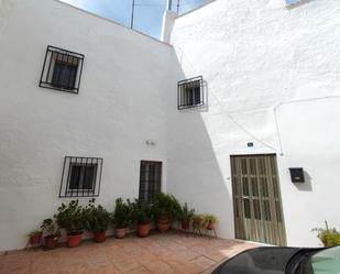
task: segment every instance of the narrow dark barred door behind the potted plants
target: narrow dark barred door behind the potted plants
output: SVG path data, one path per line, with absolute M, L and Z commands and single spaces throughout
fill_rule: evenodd
M 153 202 L 156 194 L 161 193 L 162 162 L 141 161 L 140 196 L 145 202 Z

